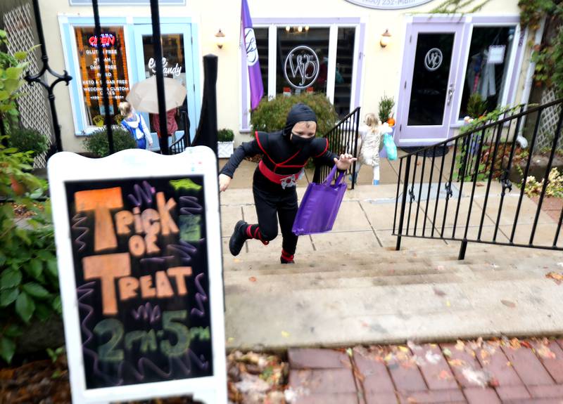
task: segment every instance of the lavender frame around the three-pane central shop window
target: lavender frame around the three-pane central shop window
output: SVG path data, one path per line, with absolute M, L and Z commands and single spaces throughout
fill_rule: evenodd
M 253 18 L 253 25 L 315 25 L 327 26 L 331 25 L 358 25 L 358 54 L 355 56 L 356 75 L 353 77 L 353 105 L 351 110 L 360 105 L 360 96 L 362 88 L 362 73 L 363 73 L 363 50 L 365 43 L 365 22 L 358 18 Z M 250 131 L 251 126 L 248 123 L 248 70 L 246 68 L 246 55 L 244 48 L 241 46 L 241 131 Z M 354 85 L 355 84 L 355 85 Z M 264 89 L 267 96 L 267 89 Z

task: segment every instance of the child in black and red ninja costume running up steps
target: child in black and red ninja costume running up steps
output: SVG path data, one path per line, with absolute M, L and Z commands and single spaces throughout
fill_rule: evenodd
M 219 175 L 219 188 L 224 191 L 229 186 L 236 167 L 244 157 L 262 153 L 263 157 L 254 171 L 253 194 L 258 215 L 258 224 L 238 221 L 234 226 L 229 250 L 238 255 L 245 240 L 255 238 L 267 245 L 277 236 L 277 217 L 281 235 L 281 263 L 293 263 L 297 246 L 297 236 L 291 232 L 297 214 L 296 183 L 303 167 L 310 157 L 317 164 L 327 164 L 346 170 L 356 159 L 348 153 L 340 158 L 328 150 L 327 138 L 315 138 L 317 116 L 305 104 L 293 105 L 283 130 L 265 133 L 255 132 L 253 141 L 236 148 L 229 162 Z M 277 215 L 277 217 L 276 217 Z

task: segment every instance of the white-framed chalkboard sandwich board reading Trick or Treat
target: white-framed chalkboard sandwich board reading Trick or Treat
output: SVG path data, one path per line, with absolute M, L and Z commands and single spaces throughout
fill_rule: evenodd
M 227 403 L 213 151 L 60 152 L 48 170 L 73 403 Z

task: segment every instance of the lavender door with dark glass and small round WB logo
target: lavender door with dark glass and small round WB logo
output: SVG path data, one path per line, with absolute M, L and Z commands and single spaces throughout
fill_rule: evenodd
M 431 145 L 448 138 L 461 24 L 413 24 L 407 35 L 395 138 L 399 145 Z

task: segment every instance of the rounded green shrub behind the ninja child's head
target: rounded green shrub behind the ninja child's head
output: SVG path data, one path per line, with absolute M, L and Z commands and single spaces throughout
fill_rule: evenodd
M 251 124 L 256 131 L 273 132 L 284 129 L 291 107 L 297 103 L 308 105 L 317 115 L 317 136 L 324 136 L 339 121 L 339 117 L 323 93 L 301 93 L 296 96 L 277 96 L 272 100 L 262 98 L 252 112 Z

